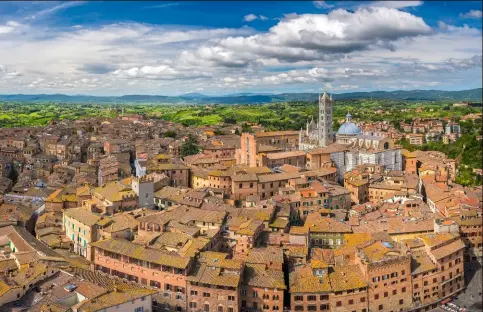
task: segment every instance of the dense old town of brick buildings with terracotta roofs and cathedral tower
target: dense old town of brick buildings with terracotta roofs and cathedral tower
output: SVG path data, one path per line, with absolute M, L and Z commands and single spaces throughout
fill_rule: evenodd
M 321 95 L 299 131 L 141 115 L 0 129 L 0 306 L 429 311 L 461 294 L 482 261 L 481 187 L 395 143 L 459 126 L 348 113 L 334 131 L 333 104 Z

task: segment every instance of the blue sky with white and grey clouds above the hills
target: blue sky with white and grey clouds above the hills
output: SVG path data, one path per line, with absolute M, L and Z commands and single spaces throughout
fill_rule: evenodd
M 0 93 L 482 84 L 481 1 L 1 2 Z

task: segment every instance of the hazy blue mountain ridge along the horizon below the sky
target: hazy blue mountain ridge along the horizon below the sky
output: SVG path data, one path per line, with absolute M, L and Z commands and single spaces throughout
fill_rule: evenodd
M 482 88 L 441 91 L 371 91 L 334 93 L 335 99 L 392 99 L 392 100 L 454 100 L 481 101 Z M 281 101 L 317 101 L 318 93 L 237 93 L 223 96 L 210 96 L 201 93 L 186 93 L 179 96 L 166 95 L 123 95 L 123 96 L 91 96 L 66 94 L 2 94 L 0 101 L 16 102 L 61 102 L 61 103 L 166 103 L 166 104 L 262 104 Z

